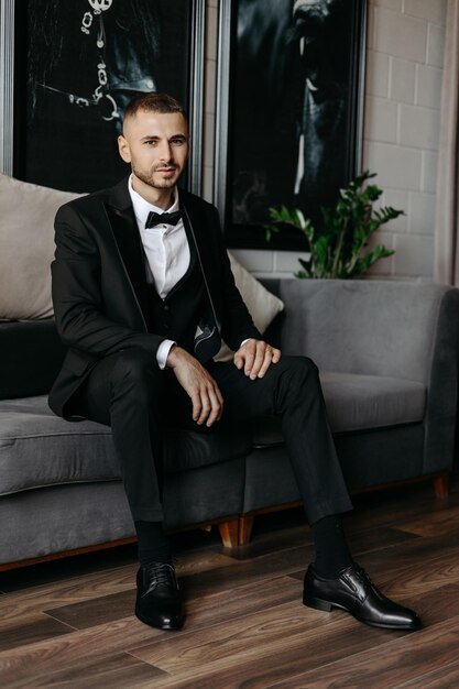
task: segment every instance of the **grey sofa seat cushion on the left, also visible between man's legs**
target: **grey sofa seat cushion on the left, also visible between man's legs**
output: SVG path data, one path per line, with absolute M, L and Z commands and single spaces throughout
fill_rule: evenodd
M 216 464 L 250 450 L 249 433 L 170 431 L 167 473 Z M 0 402 L 0 495 L 45 485 L 120 478 L 110 428 L 65 422 L 45 396 Z

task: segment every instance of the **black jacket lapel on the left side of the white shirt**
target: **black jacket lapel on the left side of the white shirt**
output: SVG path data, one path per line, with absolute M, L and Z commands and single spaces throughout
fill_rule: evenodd
M 123 179 L 111 189 L 106 210 L 143 318 L 145 322 L 149 322 L 149 291 L 144 254 L 131 197 L 128 192 L 128 179 Z

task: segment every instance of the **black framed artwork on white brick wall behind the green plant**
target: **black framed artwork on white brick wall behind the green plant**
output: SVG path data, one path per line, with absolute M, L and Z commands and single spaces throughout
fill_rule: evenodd
M 270 206 L 320 206 L 359 172 L 365 0 L 222 0 L 216 189 L 229 247 L 265 241 Z M 225 140 L 225 132 L 228 138 Z

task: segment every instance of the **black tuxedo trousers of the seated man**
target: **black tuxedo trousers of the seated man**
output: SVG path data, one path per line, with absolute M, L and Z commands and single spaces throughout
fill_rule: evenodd
M 223 396 L 212 433 L 260 416 L 282 417 L 292 469 L 309 524 L 352 508 L 327 420 L 317 367 L 306 357 L 283 357 L 251 381 L 233 362 L 206 364 Z M 163 440 L 166 428 L 209 430 L 192 418 L 192 402 L 171 370 L 140 348 L 101 359 L 74 409 L 111 426 L 134 521 L 163 521 Z

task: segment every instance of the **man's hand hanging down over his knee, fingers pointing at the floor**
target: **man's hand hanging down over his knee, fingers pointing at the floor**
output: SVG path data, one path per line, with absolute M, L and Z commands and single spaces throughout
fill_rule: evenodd
M 221 418 L 223 397 L 217 383 L 209 372 L 182 347 L 172 347 L 167 368 L 174 371 L 175 378 L 185 390 L 193 403 L 193 420 L 210 427 Z

